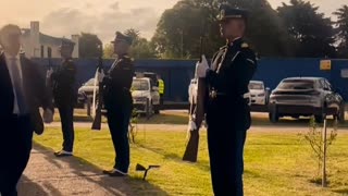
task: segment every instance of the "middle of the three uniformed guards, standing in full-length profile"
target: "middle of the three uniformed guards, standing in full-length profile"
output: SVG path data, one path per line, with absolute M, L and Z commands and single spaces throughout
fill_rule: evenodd
M 116 154 L 113 169 L 103 171 L 110 176 L 128 175 L 129 142 L 127 133 L 133 110 L 130 87 L 134 76 L 133 60 L 128 57 L 132 41 L 130 37 L 120 32 L 116 33 L 115 40 L 112 42 L 117 59 L 102 79 L 108 124 Z

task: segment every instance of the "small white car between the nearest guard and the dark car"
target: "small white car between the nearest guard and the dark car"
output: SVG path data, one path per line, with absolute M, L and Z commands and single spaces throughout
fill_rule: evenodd
M 251 105 L 268 105 L 268 90 L 262 81 L 250 81 L 249 91 Z

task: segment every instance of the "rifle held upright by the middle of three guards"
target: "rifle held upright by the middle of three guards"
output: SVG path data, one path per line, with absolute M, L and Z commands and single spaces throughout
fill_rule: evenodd
M 91 130 L 96 130 L 96 131 L 101 130 L 101 117 L 102 117 L 101 109 L 102 109 L 102 105 L 103 105 L 103 102 L 102 102 L 102 100 L 103 100 L 103 96 L 102 96 L 103 95 L 103 84 L 102 84 L 102 82 L 98 81 L 99 74 L 103 74 L 102 45 L 99 45 L 98 48 L 100 50 L 100 54 L 99 54 L 97 74 L 96 74 L 95 79 L 96 79 L 96 83 L 99 83 L 98 84 L 99 87 L 98 87 L 98 95 L 95 95 L 95 97 L 94 97 L 95 100 L 98 100 L 98 105 L 96 108 L 96 115 L 95 115 L 95 119 L 94 119 L 94 122 L 91 125 Z M 95 90 L 97 90 L 97 85 L 95 85 Z M 95 102 L 94 102 L 94 105 L 95 105 Z

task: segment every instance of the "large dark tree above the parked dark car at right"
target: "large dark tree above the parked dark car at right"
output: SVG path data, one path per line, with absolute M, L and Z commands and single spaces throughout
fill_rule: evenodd
M 288 33 L 296 39 L 297 57 L 335 57 L 333 22 L 318 9 L 302 0 L 290 0 L 290 4 L 277 8 Z

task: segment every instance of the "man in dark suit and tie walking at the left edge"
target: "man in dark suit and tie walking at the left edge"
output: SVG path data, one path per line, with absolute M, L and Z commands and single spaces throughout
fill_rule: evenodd
M 15 196 L 16 184 L 26 168 L 32 150 L 33 131 L 42 134 L 44 121 L 53 120 L 52 99 L 38 66 L 24 56 L 21 29 L 5 25 L 0 29 L 0 195 Z

